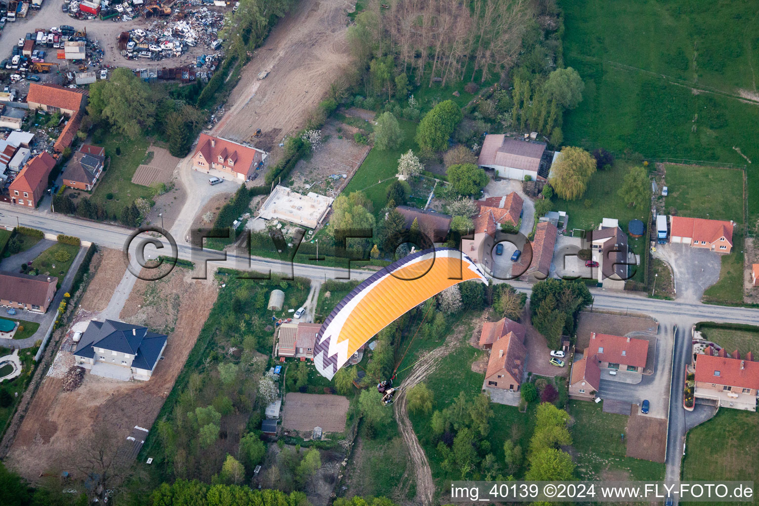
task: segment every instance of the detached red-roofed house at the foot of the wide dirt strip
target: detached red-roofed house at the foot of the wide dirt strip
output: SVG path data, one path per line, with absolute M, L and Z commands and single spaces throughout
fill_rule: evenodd
M 200 134 L 197 149 L 192 157 L 196 171 L 215 169 L 241 181 L 250 178 L 257 165 L 263 163 L 266 152 L 234 141 Z

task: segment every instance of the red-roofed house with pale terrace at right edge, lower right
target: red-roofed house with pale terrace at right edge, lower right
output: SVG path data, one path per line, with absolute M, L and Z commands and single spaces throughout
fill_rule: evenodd
M 712 354 L 715 353 L 715 354 Z M 720 407 L 757 410 L 759 362 L 749 352 L 741 357 L 738 350 L 728 354 L 724 348 L 695 356 L 694 398 L 704 399 Z

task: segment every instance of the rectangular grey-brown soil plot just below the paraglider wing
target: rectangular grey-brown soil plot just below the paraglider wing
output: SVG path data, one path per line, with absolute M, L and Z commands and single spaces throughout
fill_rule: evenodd
M 344 432 L 348 414 L 348 398 L 342 395 L 301 394 L 285 395 L 282 427 L 310 432 L 321 427 L 323 432 Z

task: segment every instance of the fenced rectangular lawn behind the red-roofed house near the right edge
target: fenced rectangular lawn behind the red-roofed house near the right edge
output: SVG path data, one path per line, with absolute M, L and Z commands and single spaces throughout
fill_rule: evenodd
M 666 164 L 666 212 L 680 216 L 743 222 L 743 171 Z M 704 198 L 708 196 L 708 198 Z

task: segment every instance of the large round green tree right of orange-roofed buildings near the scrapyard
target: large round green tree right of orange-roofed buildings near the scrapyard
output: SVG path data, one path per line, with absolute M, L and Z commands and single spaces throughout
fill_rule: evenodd
M 116 68 L 109 80 L 90 86 L 87 111 L 97 119 L 105 119 L 119 133 L 137 139 L 150 130 L 156 102 L 150 86 L 128 68 Z

